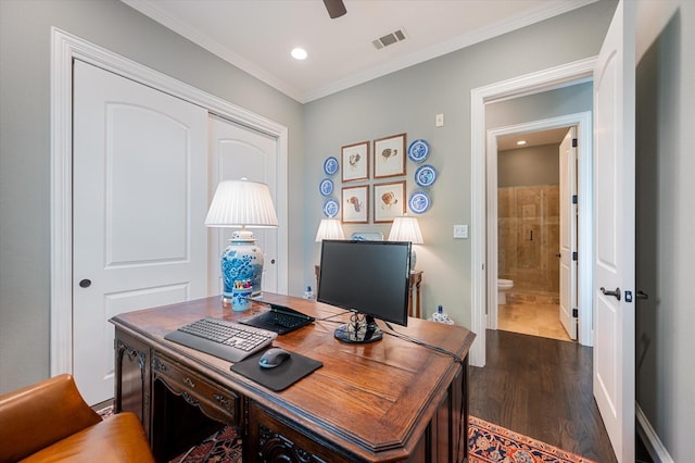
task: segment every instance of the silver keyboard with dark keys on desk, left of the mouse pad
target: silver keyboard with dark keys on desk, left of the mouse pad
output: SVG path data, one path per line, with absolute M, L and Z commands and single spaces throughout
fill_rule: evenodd
M 266 329 L 206 317 L 167 333 L 164 339 L 229 362 L 240 362 L 269 346 L 277 336 Z

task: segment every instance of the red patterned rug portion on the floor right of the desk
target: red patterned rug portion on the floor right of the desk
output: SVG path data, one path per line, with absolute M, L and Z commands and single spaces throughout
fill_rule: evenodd
M 470 463 L 595 463 L 475 416 L 468 423 Z

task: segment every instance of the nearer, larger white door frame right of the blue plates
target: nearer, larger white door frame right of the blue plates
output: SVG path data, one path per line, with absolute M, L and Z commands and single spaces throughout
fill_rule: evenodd
M 470 364 L 473 366 L 485 366 L 485 327 L 488 325 L 485 270 L 488 251 L 485 145 L 488 133 L 485 129 L 485 104 L 590 82 L 595 62 L 596 57 L 587 58 L 470 90 L 471 330 L 477 335 L 470 349 Z M 591 208 L 591 201 L 587 200 L 584 207 Z M 589 215 L 591 216 L 591 214 Z M 587 226 L 591 230 L 592 223 L 586 222 L 591 221 L 584 221 L 581 226 Z M 591 248 L 581 248 L 581 246 L 591 246 L 591 240 L 589 243 L 580 242 L 579 246 L 580 249 L 585 249 L 589 255 L 593 254 Z M 589 326 L 591 327 L 591 325 Z M 591 342 L 587 343 L 591 345 Z

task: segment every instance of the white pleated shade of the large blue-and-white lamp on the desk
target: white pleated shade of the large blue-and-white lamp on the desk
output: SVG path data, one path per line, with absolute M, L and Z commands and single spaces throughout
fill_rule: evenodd
M 270 189 L 266 184 L 245 178 L 220 182 L 207 210 L 205 225 L 208 227 L 277 227 L 278 217 L 273 205 Z

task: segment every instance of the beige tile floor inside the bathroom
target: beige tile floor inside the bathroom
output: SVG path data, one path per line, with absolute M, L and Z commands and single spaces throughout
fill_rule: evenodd
M 526 302 L 497 305 L 497 328 L 571 341 L 560 323 L 558 304 Z

